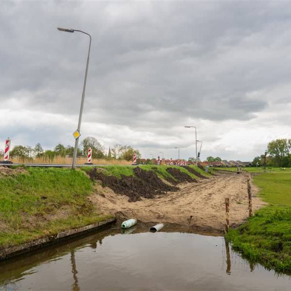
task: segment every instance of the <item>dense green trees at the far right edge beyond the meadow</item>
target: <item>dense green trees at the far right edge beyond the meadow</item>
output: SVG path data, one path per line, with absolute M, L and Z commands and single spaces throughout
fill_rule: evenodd
M 253 166 L 291 167 L 291 139 L 276 139 L 268 143 L 265 155 L 257 156 L 253 160 Z

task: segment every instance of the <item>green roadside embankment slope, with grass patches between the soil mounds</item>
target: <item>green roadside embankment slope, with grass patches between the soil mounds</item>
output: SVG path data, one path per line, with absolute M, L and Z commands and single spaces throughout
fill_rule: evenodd
M 134 176 L 132 166 L 102 168 L 104 174 L 117 178 Z M 160 178 L 175 179 L 166 171 L 166 166 L 143 165 L 141 168 L 154 171 Z M 186 169 L 177 168 L 196 178 Z M 111 217 L 100 215 L 88 199 L 93 182 L 84 172 L 90 169 L 92 167 L 84 167 L 83 171 L 27 167 L 22 173 L 0 175 L 0 248 Z M 204 173 L 196 167 L 194 169 Z

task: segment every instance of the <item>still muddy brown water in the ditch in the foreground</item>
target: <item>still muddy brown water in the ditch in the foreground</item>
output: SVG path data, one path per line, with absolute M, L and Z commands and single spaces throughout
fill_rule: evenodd
M 222 237 L 143 231 L 112 228 L 0 262 L 0 290 L 291 290 L 291 277 Z

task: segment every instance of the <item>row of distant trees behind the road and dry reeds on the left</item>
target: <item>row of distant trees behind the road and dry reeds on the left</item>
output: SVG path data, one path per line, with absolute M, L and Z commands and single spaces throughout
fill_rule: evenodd
M 117 160 L 132 160 L 133 154 L 137 158 L 141 158 L 138 150 L 132 146 L 115 144 L 112 148 L 109 147 L 108 152 L 105 151 L 96 138 L 88 136 L 82 140 L 81 145 L 78 147 L 77 157 L 87 157 L 88 149 L 92 148 L 93 159 L 117 159 Z M 48 158 L 54 159 L 55 157 L 72 157 L 74 153 L 74 146 L 64 146 L 62 144 L 56 145 L 53 149 L 44 150 L 40 143 L 34 147 L 17 145 L 10 152 L 10 157 L 20 159 L 34 159 L 34 158 Z

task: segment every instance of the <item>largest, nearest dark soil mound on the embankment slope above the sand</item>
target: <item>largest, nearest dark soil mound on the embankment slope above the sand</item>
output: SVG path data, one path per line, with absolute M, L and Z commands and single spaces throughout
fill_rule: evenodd
M 152 171 L 144 171 L 139 167 L 133 169 L 136 176 L 122 176 L 121 179 L 114 176 L 106 176 L 97 168 L 88 172 L 92 180 L 102 181 L 103 186 L 111 188 L 115 193 L 129 196 L 129 202 L 140 200 L 140 197 L 154 198 L 157 194 L 165 194 L 167 191 L 177 191 L 178 188 L 169 186 Z

